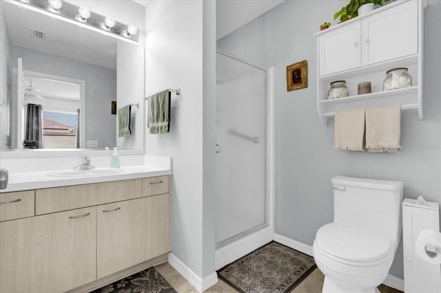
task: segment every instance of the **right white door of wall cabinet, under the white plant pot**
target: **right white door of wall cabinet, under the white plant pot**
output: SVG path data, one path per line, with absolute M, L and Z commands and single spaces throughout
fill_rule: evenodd
M 362 19 L 362 65 L 418 53 L 418 1 Z

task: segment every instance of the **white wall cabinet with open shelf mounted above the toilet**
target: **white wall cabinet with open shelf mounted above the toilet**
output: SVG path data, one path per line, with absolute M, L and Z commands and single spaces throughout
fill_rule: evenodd
M 336 111 L 400 104 L 422 112 L 422 36 L 426 1 L 396 1 L 316 33 L 317 107 L 320 120 Z M 408 67 L 412 87 L 383 91 L 386 72 Z M 330 83 L 346 80 L 349 97 L 327 100 Z M 371 82 L 371 94 L 358 96 L 358 83 Z

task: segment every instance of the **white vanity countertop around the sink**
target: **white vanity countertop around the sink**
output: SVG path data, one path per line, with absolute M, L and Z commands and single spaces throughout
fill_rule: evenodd
M 0 193 L 8 193 L 11 191 L 27 191 L 39 188 L 90 184 L 98 182 L 109 182 L 116 180 L 129 180 L 172 174 L 172 170 L 170 169 L 170 167 L 164 166 L 122 166 L 121 170 L 122 172 L 120 173 L 98 176 L 95 175 L 90 177 L 53 177 L 48 175 L 48 173 L 52 173 L 51 171 L 9 173 L 8 187 L 1 190 Z M 72 169 L 65 171 L 72 171 Z

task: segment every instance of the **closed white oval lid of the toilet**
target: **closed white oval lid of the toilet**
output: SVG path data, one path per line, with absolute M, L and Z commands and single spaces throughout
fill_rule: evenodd
M 320 250 L 347 261 L 376 261 L 387 256 L 389 240 L 380 233 L 347 223 L 330 223 L 317 231 Z

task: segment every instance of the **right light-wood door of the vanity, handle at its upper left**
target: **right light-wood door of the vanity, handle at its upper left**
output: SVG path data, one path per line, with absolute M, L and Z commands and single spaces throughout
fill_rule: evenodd
M 98 206 L 97 277 L 170 251 L 169 195 Z

